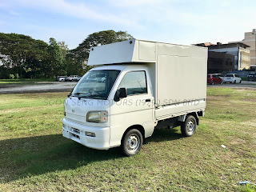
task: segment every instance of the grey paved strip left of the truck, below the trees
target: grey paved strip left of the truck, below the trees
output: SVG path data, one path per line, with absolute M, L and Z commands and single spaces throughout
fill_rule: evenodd
M 24 94 L 44 92 L 69 92 L 77 82 L 37 82 L 30 85 L 2 84 L 0 94 Z

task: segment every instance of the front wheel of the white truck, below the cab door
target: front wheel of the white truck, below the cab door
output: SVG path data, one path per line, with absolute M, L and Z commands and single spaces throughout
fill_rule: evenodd
M 138 154 L 142 148 L 143 137 L 139 130 L 129 130 L 122 138 L 121 148 L 122 154 L 130 157 L 134 154 Z

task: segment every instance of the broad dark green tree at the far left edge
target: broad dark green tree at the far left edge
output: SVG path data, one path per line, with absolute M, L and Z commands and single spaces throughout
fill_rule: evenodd
M 2 64 L 21 78 L 26 72 L 38 69 L 38 63 L 47 58 L 47 46 L 46 42 L 23 34 L 0 33 Z

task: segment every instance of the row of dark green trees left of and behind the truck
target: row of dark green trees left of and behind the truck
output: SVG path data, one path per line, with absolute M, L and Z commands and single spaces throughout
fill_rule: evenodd
M 50 38 L 36 40 L 24 34 L 0 33 L 0 78 L 54 78 L 85 74 L 90 47 L 133 38 L 126 31 L 104 30 L 90 34 L 74 50 Z

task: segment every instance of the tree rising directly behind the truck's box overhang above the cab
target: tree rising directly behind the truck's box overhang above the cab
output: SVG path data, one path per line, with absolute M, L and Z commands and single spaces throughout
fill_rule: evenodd
M 115 32 L 114 30 L 103 30 L 90 34 L 81 44 L 79 44 L 77 48 L 70 50 L 68 58 L 69 61 L 72 61 L 72 64 L 69 62 L 69 65 L 76 66 L 78 69 L 89 69 L 85 62 L 88 60 L 90 48 L 92 46 L 101 46 L 113 42 L 122 42 L 131 38 L 133 38 L 133 36 L 127 34 L 126 31 L 121 30 L 118 32 Z

